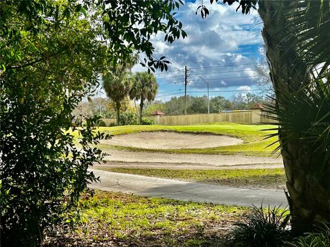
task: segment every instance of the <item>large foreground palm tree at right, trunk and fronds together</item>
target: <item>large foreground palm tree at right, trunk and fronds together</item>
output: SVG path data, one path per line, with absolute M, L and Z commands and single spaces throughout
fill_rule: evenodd
M 294 231 L 330 221 L 329 1 L 259 0 Z M 318 75 L 314 70 L 318 68 Z

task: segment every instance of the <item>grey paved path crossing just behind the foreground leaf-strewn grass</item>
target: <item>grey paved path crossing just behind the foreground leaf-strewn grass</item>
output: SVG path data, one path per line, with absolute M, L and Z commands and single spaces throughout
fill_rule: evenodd
M 96 176 L 100 176 L 101 183 L 93 183 L 89 187 L 105 191 L 121 191 L 134 193 L 137 196 L 171 198 L 177 200 L 191 200 L 195 202 L 212 202 L 214 204 L 228 204 L 251 206 L 283 207 L 287 200 L 283 190 L 278 189 L 244 189 L 222 185 L 208 185 L 203 183 L 189 183 L 179 180 L 152 178 L 133 174 L 120 174 L 89 169 Z

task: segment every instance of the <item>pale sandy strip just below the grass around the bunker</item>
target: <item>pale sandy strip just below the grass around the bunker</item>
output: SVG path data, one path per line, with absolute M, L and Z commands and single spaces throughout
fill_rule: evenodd
M 130 152 L 126 150 L 104 150 L 110 155 L 105 161 L 144 162 L 144 163 L 194 163 L 203 165 L 282 165 L 282 158 L 254 157 L 239 154 L 166 154 L 163 152 Z

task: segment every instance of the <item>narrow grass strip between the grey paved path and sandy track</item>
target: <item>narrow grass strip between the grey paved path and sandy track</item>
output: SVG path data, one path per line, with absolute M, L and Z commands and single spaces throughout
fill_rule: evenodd
M 191 170 L 191 169 L 98 169 L 109 172 L 122 172 L 158 178 L 173 178 L 201 183 L 228 185 L 234 187 L 266 187 L 278 188 L 285 185 L 284 169 L 221 169 L 221 170 Z

